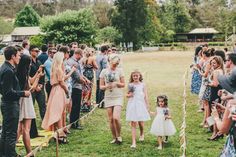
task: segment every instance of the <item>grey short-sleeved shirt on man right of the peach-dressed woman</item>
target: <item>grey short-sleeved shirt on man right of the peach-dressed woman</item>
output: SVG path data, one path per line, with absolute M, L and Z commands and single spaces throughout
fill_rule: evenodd
M 66 62 L 70 67 L 75 66 L 77 68 L 71 75 L 72 88 L 77 88 L 82 90 L 82 83 L 80 81 L 80 76 L 82 75 L 80 63 L 77 59 L 72 56 Z

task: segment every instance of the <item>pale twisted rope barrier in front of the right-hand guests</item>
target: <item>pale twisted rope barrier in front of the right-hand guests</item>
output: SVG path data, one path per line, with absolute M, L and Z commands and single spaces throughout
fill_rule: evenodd
M 184 79 L 184 91 L 183 91 L 183 104 L 182 104 L 182 109 L 183 109 L 183 123 L 180 128 L 180 149 L 182 151 L 181 157 L 186 157 L 186 150 L 187 150 L 187 138 L 186 138 L 186 116 L 187 116 L 187 111 L 186 111 L 186 105 L 187 105 L 187 94 L 186 94 L 186 86 L 187 86 L 187 77 L 188 77 L 188 69 L 185 71 L 183 79 Z

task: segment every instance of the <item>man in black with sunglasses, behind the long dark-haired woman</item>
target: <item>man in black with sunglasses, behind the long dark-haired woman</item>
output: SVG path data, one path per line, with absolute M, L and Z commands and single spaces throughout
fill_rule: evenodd
M 42 63 L 37 59 L 38 53 L 39 53 L 38 47 L 35 45 L 31 45 L 30 54 L 32 57 L 32 62 L 31 62 L 31 67 L 30 67 L 30 72 L 29 72 L 30 77 L 33 77 L 38 71 L 39 67 L 42 66 Z M 35 103 L 35 100 L 37 101 L 38 106 L 39 106 L 40 117 L 42 120 L 46 112 L 46 102 L 45 102 L 45 93 L 44 93 L 45 80 L 44 79 L 45 79 L 44 76 L 39 79 L 39 84 L 36 90 L 32 93 L 33 103 Z M 34 138 L 37 136 L 38 136 L 38 132 L 37 132 L 35 119 L 32 119 L 30 137 Z

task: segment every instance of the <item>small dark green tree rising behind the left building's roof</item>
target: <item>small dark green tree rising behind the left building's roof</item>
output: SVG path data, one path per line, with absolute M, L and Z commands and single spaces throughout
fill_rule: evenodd
M 40 16 L 38 13 L 28 4 L 16 15 L 15 26 L 17 27 L 29 27 L 39 26 Z

